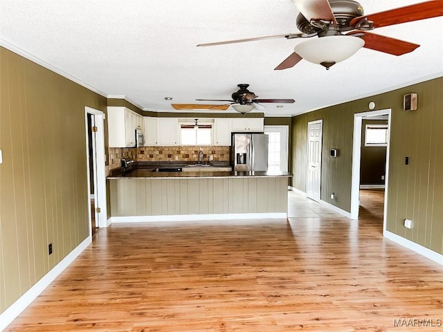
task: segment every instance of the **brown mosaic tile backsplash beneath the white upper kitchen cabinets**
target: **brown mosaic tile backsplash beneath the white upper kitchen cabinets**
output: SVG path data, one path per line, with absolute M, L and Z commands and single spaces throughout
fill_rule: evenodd
M 134 159 L 135 161 L 188 161 L 199 159 L 199 151 L 203 151 L 204 160 L 229 161 L 229 146 L 199 146 L 181 145 L 174 147 L 109 147 L 106 173 L 111 169 L 120 167 L 121 159 Z M 212 160 L 210 160 L 212 156 Z

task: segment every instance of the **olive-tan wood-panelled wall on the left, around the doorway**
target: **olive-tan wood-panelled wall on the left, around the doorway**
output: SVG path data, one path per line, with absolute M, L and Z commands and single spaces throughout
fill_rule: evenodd
M 3 312 L 89 236 L 84 107 L 106 99 L 6 48 L 0 59 Z

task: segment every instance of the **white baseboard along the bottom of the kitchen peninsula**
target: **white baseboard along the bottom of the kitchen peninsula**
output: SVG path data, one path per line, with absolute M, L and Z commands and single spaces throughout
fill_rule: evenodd
M 166 216 L 111 216 L 109 223 L 152 223 L 159 221 L 206 221 L 234 219 L 287 219 L 287 212 L 175 214 Z

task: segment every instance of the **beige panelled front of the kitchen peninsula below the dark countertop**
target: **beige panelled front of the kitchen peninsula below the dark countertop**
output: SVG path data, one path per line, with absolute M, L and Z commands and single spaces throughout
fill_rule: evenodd
M 111 216 L 287 212 L 284 177 L 108 180 Z

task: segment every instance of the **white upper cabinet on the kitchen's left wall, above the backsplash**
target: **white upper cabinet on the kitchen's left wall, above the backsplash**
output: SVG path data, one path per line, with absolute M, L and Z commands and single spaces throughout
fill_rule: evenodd
M 135 147 L 136 118 L 140 115 L 126 107 L 109 106 L 107 109 L 109 147 Z

